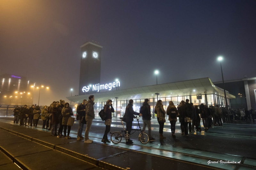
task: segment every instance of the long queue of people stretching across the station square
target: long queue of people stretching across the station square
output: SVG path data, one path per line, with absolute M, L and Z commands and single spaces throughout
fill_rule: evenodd
M 95 118 L 94 113 L 94 96 L 90 95 L 88 100 L 83 100 L 76 108 L 76 119 L 78 120 L 78 130 L 77 130 L 77 140 L 84 139 L 84 143 L 92 143 L 93 140 L 89 139 L 89 131 L 92 126 L 92 121 Z M 108 133 L 110 132 L 110 127 L 112 123 L 112 113 L 115 112 L 112 106 L 112 100 L 108 100 L 106 105 L 104 105 L 104 113 L 106 115 L 105 119 L 105 132 L 103 134 L 101 142 L 107 143 Z M 69 106 L 69 103 L 64 100 L 53 101 L 52 104 L 44 106 L 43 109 L 40 109 L 39 106 L 32 105 L 28 107 L 24 105 L 23 107 L 16 108 L 14 112 L 14 124 L 19 124 L 20 126 L 28 127 L 37 127 L 39 119 L 43 120 L 42 129 L 48 129 L 51 131 L 51 136 L 65 137 L 65 139 L 70 139 L 69 136 L 71 126 L 68 125 L 68 118 L 73 114 L 72 108 Z M 166 111 L 164 110 L 162 100 L 158 100 L 155 106 L 154 113 L 156 114 L 157 121 L 159 123 L 159 139 L 163 140 L 166 137 L 163 135 L 164 122 L 166 121 L 166 115 L 168 115 L 168 120 L 171 124 L 172 137 L 175 136 L 175 126 L 179 118 L 181 135 L 188 136 L 188 132 L 201 132 L 201 120 L 203 122 L 204 131 L 207 132 L 209 128 L 213 126 L 222 126 L 222 122 L 237 121 L 243 120 L 247 121 L 252 119 L 254 122 L 255 110 L 250 109 L 231 109 L 228 110 L 225 107 L 210 106 L 204 105 L 203 103 L 199 105 L 193 105 L 189 103 L 189 100 L 182 100 L 177 106 L 174 105 L 172 101 L 169 102 L 169 106 Z M 166 115 L 165 115 L 166 114 Z M 133 100 L 129 100 L 129 104 L 125 108 L 125 122 L 126 122 L 126 131 L 128 136 L 130 136 L 132 130 L 132 121 L 134 115 L 142 116 L 143 120 L 143 130 L 146 130 L 148 127 L 148 136 L 150 141 L 156 140 L 152 137 L 151 133 L 151 112 L 149 100 L 145 99 L 143 105 L 140 107 L 140 113 L 137 113 L 133 110 Z M 28 122 L 28 125 L 27 125 Z M 84 129 L 84 124 L 86 124 L 86 129 L 84 132 L 84 137 L 82 132 Z M 45 127 L 46 126 L 46 127 Z M 58 128 L 59 126 L 59 128 Z M 68 132 L 67 132 L 68 129 Z M 57 131 L 58 130 L 58 131 Z M 64 135 L 62 135 L 64 131 Z M 132 144 L 132 140 L 128 137 L 126 139 L 126 144 Z

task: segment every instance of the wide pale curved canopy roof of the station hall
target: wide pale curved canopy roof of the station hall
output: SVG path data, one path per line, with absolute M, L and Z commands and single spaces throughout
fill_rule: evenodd
M 120 100 L 136 100 L 136 99 L 150 99 L 158 97 L 176 97 L 176 96 L 188 96 L 188 95 L 203 95 L 203 94 L 216 94 L 224 97 L 224 90 L 215 86 L 210 78 L 199 78 L 194 80 L 179 81 L 174 83 L 164 83 L 159 85 L 149 85 L 143 87 L 136 87 L 130 89 L 122 89 L 90 93 L 85 95 L 78 95 L 67 97 L 68 100 L 73 102 L 82 103 L 84 99 L 88 100 L 90 95 L 94 95 L 94 102 L 106 102 L 108 99 L 116 100 L 118 97 Z M 235 99 L 236 97 L 226 91 L 228 99 Z

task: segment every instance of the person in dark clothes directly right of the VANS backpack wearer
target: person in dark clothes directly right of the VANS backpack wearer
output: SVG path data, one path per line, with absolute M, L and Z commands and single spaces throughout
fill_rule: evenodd
M 178 112 L 180 114 L 180 129 L 181 129 L 181 135 L 188 136 L 188 122 L 185 122 L 185 117 L 186 117 L 186 106 L 185 106 L 185 101 L 181 100 L 180 105 L 178 107 Z

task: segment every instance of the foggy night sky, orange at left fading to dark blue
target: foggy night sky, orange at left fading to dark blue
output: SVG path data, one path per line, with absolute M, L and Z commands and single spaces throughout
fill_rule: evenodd
M 255 0 L 0 0 L 0 74 L 50 91 L 40 105 L 78 94 L 80 46 L 97 41 L 101 82 L 120 89 L 209 77 L 256 77 Z M 38 101 L 35 92 L 34 103 Z

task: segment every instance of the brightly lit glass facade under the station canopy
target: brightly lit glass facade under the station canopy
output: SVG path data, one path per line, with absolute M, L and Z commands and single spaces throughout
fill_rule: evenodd
M 151 107 L 151 115 L 152 118 L 156 118 L 156 115 L 154 114 L 154 108 L 156 106 L 156 101 L 157 100 L 162 100 L 163 101 L 163 105 L 164 105 L 164 109 L 166 110 L 168 105 L 169 105 L 169 101 L 172 101 L 174 103 L 174 105 L 177 107 L 180 104 L 181 100 L 186 100 L 189 99 L 189 102 L 193 103 L 194 105 L 199 105 L 201 103 L 204 103 L 206 105 L 212 105 L 212 106 L 216 106 L 217 104 L 220 107 L 226 107 L 225 106 L 225 98 L 223 96 L 219 96 L 216 94 L 204 94 L 204 95 L 200 95 L 200 98 L 202 96 L 202 99 L 197 99 L 197 95 L 189 95 L 189 96 L 176 96 L 176 97 L 158 97 L 157 98 L 149 98 L 149 105 Z M 133 100 L 133 110 L 135 112 L 140 112 L 140 107 L 142 106 L 144 99 L 132 99 Z M 115 109 L 115 113 L 113 113 L 113 117 L 123 117 L 124 116 L 124 112 L 125 112 L 125 108 L 128 105 L 129 100 L 113 100 L 112 105 Z M 230 101 L 228 99 L 228 105 L 229 105 Z M 103 109 L 104 105 L 106 104 L 105 102 L 95 102 L 94 104 L 94 113 L 95 116 L 99 116 L 99 112 L 101 109 Z

